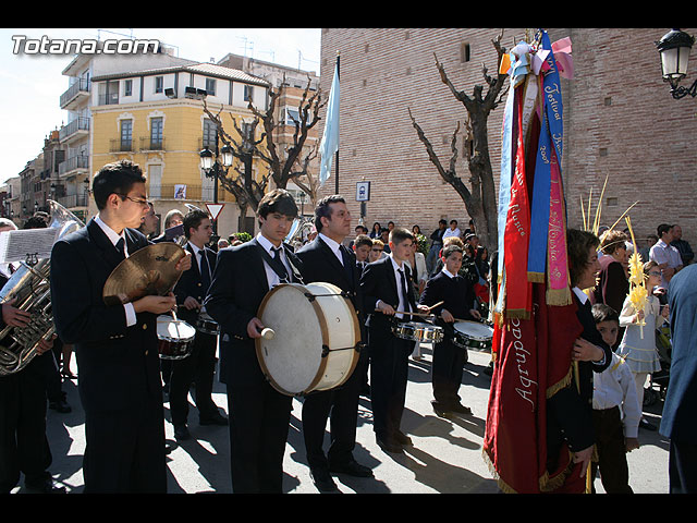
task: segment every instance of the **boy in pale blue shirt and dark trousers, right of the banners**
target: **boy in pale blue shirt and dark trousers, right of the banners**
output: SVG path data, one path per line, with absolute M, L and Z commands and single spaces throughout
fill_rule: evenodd
M 612 346 L 620 328 L 617 313 L 608 305 L 596 304 L 592 315 L 603 341 Z M 632 494 L 626 452 L 639 448 L 641 410 L 634 376 L 616 354 L 612 354 L 612 363 L 606 370 L 594 373 L 592 409 L 598 462 L 591 463 L 591 477 L 600 470 L 607 494 Z

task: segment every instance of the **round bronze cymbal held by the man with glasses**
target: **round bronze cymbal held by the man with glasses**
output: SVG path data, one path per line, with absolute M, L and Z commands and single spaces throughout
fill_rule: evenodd
M 102 292 L 107 305 L 124 304 L 143 296 L 163 296 L 174 289 L 182 276 L 176 263 L 186 251 L 173 242 L 143 247 L 121 262 L 109 275 Z

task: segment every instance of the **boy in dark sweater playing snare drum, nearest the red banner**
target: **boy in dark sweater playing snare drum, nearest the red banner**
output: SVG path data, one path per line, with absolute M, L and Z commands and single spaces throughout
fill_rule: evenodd
M 481 319 L 476 309 L 476 296 L 473 284 L 457 275 L 462 267 L 463 248 L 450 244 L 442 252 L 443 269 L 428 280 L 419 303 L 432 305 L 443 302 L 432 312 L 438 316 L 436 324 L 443 327 L 443 341 L 433 344 L 432 386 L 433 411 L 441 417 L 452 414 L 472 414 L 463 405 L 457 394 L 462 382 L 462 372 L 467 362 L 467 349 L 453 343 L 454 321 Z

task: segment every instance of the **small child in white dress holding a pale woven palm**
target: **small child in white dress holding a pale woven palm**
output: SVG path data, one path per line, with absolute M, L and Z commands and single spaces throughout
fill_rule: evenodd
M 647 262 L 644 264 L 644 278 L 646 288 L 652 289 L 658 285 L 661 280 L 661 270 L 656 262 Z M 656 349 L 656 329 L 660 327 L 668 318 L 668 306 L 661 311 L 661 304 L 652 294 L 649 294 L 644 311 L 637 311 L 627 296 L 620 313 L 620 325 L 626 327 L 624 337 L 617 349 L 620 354 L 629 365 L 634 379 L 636 381 L 636 397 L 639 400 L 639 406 L 644 405 L 644 384 L 646 377 L 661 369 Z M 644 326 L 639 323 L 644 319 Z M 656 430 L 656 426 L 648 423 L 644 418 L 639 422 L 639 426 Z

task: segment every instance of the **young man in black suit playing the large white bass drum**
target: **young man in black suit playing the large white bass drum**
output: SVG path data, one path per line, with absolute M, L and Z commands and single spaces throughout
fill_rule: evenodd
M 220 380 L 228 387 L 234 492 L 282 492 L 292 398 L 278 392 L 261 372 L 255 339 L 264 325 L 256 315 L 273 285 L 297 281 L 293 267 L 299 270 L 302 264 L 283 243 L 296 216 L 288 191 L 266 194 L 257 208 L 259 233 L 218 253 L 204 303 L 220 325 Z

